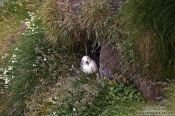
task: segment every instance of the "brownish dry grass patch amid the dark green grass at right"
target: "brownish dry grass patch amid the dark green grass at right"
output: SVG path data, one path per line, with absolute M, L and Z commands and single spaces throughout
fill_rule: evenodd
M 140 64 L 143 66 L 144 78 L 157 79 L 162 68 L 160 62 L 155 61 L 156 35 L 145 31 L 136 38 L 135 50 L 140 57 Z

